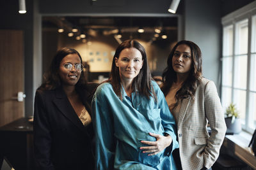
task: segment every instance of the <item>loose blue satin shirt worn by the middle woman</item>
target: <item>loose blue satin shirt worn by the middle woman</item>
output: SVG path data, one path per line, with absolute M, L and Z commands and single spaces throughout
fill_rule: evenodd
M 157 101 L 139 92 L 128 97 L 124 88 L 121 101 L 110 83 L 97 88 L 92 100 L 97 169 L 176 169 L 170 155 L 179 148 L 175 120 L 156 82 L 152 87 Z M 156 141 L 149 132 L 170 134 L 172 144 L 157 155 L 142 153 L 141 140 Z

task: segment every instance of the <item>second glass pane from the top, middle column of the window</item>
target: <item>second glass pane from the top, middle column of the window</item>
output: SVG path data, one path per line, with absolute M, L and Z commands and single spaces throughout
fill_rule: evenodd
M 247 80 L 247 55 L 235 57 L 234 87 L 246 89 Z

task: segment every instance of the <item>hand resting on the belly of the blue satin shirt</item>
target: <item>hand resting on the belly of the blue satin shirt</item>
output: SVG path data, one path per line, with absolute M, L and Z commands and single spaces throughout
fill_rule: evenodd
M 140 147 L 140 150 L 144 150 L 143 153 L 149 153 L 148 156 L 156 155 L 172 143 L 172 137 L 170 135 L 162 136 L 154 133 L 149 133 L 149 135 L 155 137 L 156 141 L 141 141 L 141 143 L 151 146 Z

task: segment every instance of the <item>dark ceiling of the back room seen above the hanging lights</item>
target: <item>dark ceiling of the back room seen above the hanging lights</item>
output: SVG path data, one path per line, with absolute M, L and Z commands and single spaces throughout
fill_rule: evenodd
M 123 39 L 140 38 L 145 41 L 152 41 L 156 27 L 162 31 L 154 41 L 176 41 L 177 23 L 177 17 L 43 17 L 44 29 L 65 27 L 70 32 L 72 27 L 77 27 L 79 32 L 90 34 L 94 31 L 104 35 L 114 34 L 111 31 L 118 29 Z M 145 32 L 138 33 L 139 27 L 143 27 Z M 161 34 L 166 34 L 168 39 L 161 39 Z

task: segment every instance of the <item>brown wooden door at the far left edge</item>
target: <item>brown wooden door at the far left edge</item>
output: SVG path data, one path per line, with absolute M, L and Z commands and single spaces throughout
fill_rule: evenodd
M 24 92 L 23 31 L 0 30 L 0 127 L 24 117 L 18 92 Z

